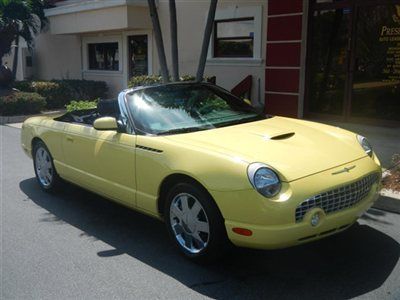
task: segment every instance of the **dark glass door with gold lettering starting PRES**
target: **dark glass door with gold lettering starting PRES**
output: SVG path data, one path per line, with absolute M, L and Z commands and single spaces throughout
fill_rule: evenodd
M 357 8 L 351 118 L 400 121 L 400 3 Z

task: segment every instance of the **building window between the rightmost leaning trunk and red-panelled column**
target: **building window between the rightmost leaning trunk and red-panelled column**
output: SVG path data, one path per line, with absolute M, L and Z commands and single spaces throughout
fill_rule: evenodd
M 254 18 L 215 21 L 214 57 L 253 56 Z

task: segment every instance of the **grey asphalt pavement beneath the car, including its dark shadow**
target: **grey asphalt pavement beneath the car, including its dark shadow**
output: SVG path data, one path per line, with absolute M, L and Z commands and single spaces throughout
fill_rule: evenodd
M 285 250 L 193 264 L 164 224 L 67 186 L 42 192 L 20 130 L 0 126 L 1 299 L 400 299 L 400 215 Z

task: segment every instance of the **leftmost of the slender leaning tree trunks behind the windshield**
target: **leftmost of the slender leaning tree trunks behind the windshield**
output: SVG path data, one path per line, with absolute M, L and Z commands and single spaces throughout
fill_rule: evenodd
M 157 7 L 155 0 L 148 0 L 148 3 L 150 9 L 150 17 L 154 28 L 154 37 L 156 39 L 158 60 L 160 62 L 160 68 L 161 68 L 161 76 L 163 78 L 163 82 L 166 83 L 169 82 L 169 74 L 167 67 L 167 59 L 165 58 L 164 42 L 162 39 L 160 21 L 158 19 Z

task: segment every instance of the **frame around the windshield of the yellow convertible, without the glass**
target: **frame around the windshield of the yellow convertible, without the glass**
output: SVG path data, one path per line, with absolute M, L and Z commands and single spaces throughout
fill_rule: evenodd
M 241 122 L 234 122 L 233 124 L 222 124 L 221 126 L 197 127 L 197 128 L 195 128 L 195 127 L 193 127 L 193 128 L 192 127 L 182 127 L 181 129 L 176 128 L 176 129 L 173 129 L 173 130 L 166 130 L 166 131 L 158 132 L 158 133 L 147 132 L 147 131 L 144 131 L 144 130 L 138 128 L 138 126 L 136 125 L 136 122 L 135 122 L 135 118 L 134 118 L 132 109 L 131 109 L 131 107 L 129 105 L 129 101 L 130 100 L 129 100 L 128 97 L 132 96 L 136 92 L 140 92 L 140 91 L 143 91 L 143 90 L 146 90 L 146 89 L 162 88 L 164 86 L 170 86 L 170 85 L 207 86 L 208 88 L 211 88 L 211 90 L 214 93 L 216 93 L 217 95 L 219 93 L 228 94 L 229 97 L 234 98 L 236 101 L 245 103 L 246 105 L 248 105 L 249 110 L 252 113 L 255 114 L 255 116 L 248 118 L 249 120 L 246 120 L 246 119 L 237 120 L 237 121 L 241 121 Z M 168 136 L 168 135 L 175 135 L 175 134 L 184 134 L 184 133 L 189 133 L 189 132 L 212 130 L 212 129 L 217 129 L 217 128 L 221 128 L 221 127 L 228 127 L 228 126 L 235 126 L 235 125 L 240 125 L 240 124 L 245 124 L 245 123 L 251 123 L 251 122 L 261 121 L 261 120 L 265 120 L 265 119 L 269 119 L 269 118 L 273 117 L 271 115 L 263 113 L 262 111 L 258 111 L 253 106 L 251 106 L 250 104 L 245 102 L 240 97 L 238 97 L 236 95 L 233 95 L 228 90 L 226 90 L 226 89 L 224 89 L 224 88 L 222 88 L 220 86 L 217 86 L 215 84 L 208 83 L 208 82 L 187 81 L 187 82 L 172 82 L 172 83 L 166 83 L 166 84 L 156 84 L 156 85 L 149 85 L 149 86 L 139 86 L 139 87 L 135 87 L 135 88 L 132 88 L 132 89 L 125 90 L 123 98 L 124 98 L 124 104 L 125 104 L 129 119 L 131 120 L 131 123 L 133 124 L 133 128 L 134 128 L 135 134 L 137 134 L 137 135 Z M 222 123 L 224 123 L 224 122 L 222 122 Z

